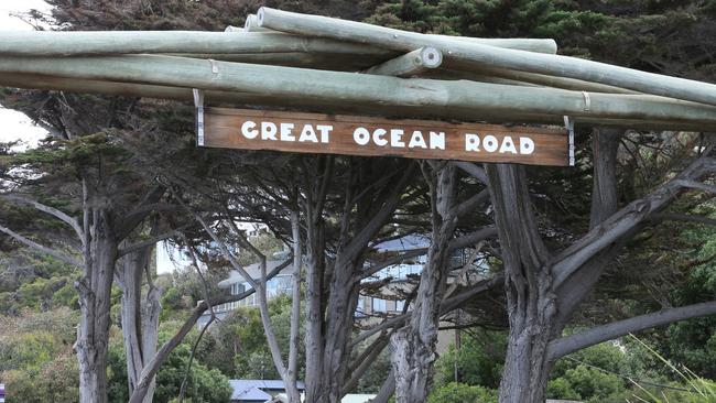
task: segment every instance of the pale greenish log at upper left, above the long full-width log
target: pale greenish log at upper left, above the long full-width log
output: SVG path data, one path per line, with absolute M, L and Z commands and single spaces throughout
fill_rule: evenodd
M 376 46 L 274 32 L 0 31 L 0 55 L 76 56 L 137 53 L 332 53 L 395 57 Z

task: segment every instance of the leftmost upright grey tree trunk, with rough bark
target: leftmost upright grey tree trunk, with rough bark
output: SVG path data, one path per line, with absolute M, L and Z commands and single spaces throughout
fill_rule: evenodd
M 95 216 L 98 218 L 99 215 Z M 95 224 L 91 258 L 83 279 L 75 284 L 82 311 L 75 345 L 79 361 L 80 403 L 107 402 L 107 347 L 117 242 L 107 222 L 95 220 Z

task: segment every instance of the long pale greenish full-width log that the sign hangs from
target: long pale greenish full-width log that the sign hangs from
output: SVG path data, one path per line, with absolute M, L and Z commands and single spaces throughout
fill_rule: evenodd
M 647 95 L 614 95 L 474 81 L 401 79 L 305 68 L 129 55 L 111 57 L 1 57 L 1 73 L 113 80 L 239 91 L 339 102 L 360 112 L 392 106 L 411 116 L 462 116 L 468 120 L 520 121 L 523 116 L 564 115 L 599 119 L 659 120 L 691 124 L 716 122 L 716 108 Z M 524 120 L 524 122 L 530 122 Z

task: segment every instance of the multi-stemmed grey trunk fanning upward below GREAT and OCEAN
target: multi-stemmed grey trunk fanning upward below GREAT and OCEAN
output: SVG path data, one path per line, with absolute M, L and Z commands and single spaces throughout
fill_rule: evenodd
M 350 381 L 348 368 L 355 313 L 362 279 L 364 252 L 392 217 L 412 175 L 412 165 L 399 165 L 398 181 L 379 182 L 375 194 L 355 194 L 375 186 L 384 171 L 351 166 L 345 184 L 337 251 L 326 257 L 325 221 L 322 217 L 329 164 L 317 170 L 315 183 L 304 184 L 306 217 L 306 401 L 338 403 Z M 380 171 L 380 172 L 379 172 Z M 358 181 L 365 181 L 358 183 Z

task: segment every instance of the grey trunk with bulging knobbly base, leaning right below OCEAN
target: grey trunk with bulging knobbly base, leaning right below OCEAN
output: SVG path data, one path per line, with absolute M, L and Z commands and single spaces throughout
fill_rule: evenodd
M 445 164 L 428 173 L 431 188 L 433 236 L 417 287 L 415 305 L 406 326 L 391 338 L 395 401 L 398 403 L 425 402 L 433 382 L 434 362 L 437 358 L 437 328 L 440 307 L 447 284 L 449 261 L 448 243 L 455 231 L 454 216 L 456 176 L 455 167 Z

